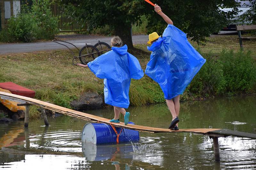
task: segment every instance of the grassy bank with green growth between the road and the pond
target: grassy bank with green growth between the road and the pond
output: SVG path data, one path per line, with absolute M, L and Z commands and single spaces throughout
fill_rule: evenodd
M 181 100 L 255 91 L 255 41 L 245 41 L 244 52 L 239 51 L 235 35 L 209 38 L 205 46 L 192 44 L 207 62 Z M 135 45 L 137 49 L 130 51 L 138 57 L 144 70 L 150 55 L 146 47 Z M 71 59 L 67 50 L 1 55 L 0 82 L 12 81 L 35 90 L 36 99 L 68 108 L 69 102 L 83 92 L 103 95 L 103 80 L 96 78 L 89 69 L 73 66 Z M 132 80 L 130 101 L 134 106 L 164 102 L 164 95 L 159 85 L 145 75 L 140 80 Z M 32 108 L 31 116 L 38 115 L 36 107 Z

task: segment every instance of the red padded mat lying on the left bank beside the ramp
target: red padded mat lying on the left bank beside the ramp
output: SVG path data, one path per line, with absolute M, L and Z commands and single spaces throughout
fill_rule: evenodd
M 12 94 L 17 94 L 20 96 L 25 96 L 30 98 L 34 98 L 36 95 L 35 91 L 22 87 L 20 85 L 16 85 L 15 83 L 12 83 L 12 82 L 0 83 L 0 88 L 9 90 Z

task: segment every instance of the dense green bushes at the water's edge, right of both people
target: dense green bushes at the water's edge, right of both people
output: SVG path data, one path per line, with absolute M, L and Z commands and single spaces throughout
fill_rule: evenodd
M 250 52 L 221 52 L 209 54 L 206 63 L 192 80 L 189 92 L 207 96 L 251 92 L 256 85 L 256 62 Z

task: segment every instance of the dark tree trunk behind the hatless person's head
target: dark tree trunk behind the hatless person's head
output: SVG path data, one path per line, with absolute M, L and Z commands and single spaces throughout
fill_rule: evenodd
M 127 45 L 128 48 L 132 49 L 132 26 L 127 24 L 119 24 L 115 26 L 115 35 L 118 35 L 123 40 L 123 45 Z

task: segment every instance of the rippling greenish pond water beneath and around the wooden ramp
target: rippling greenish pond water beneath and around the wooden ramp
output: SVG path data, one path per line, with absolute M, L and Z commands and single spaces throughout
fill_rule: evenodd
M 220 128 L 256 133 L 256 97 L 183 102 L 180 129 Z M 168 128 L 166 104 L 129 107 L 135 124 Z M 113 109 L 86 111 L 113 118 Z M 0 124 L 0 168 L 7 169 L 256 169 L 256 140 L 220 137 L 220 162 L 214 161 L 213 139 L 193 133 L 140 132 L 136 144 L 82 144 L 87 121 L 60 115 L 43 120 Z M 120 121 L 124 121 L 121 117 Z

